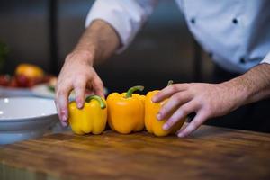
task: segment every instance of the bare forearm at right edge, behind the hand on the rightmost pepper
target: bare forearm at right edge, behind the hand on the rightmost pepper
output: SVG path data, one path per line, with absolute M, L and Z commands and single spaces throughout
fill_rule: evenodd
M 270 65 L 253 67 L 244 75 L 224 84 L 234 89 L 233 93 L 239 94 L 239 106 L 265 99 L 270 96 Z

